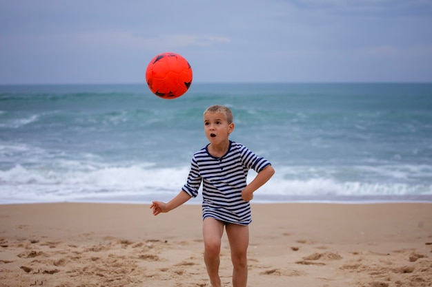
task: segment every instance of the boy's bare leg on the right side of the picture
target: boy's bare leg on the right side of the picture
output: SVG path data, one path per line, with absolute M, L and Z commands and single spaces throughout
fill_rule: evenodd
M 231 260 L 233 261 L 233 287 L 246 287 L 248 281 L 249 227 L 228 224 L 226 235 L 228 235 L 230 242 Z

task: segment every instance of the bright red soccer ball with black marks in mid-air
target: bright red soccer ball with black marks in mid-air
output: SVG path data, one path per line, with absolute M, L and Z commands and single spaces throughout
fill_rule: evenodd
M 161 53 L 148 63 L 146 81 L 156 96 L 178 98 L 188 91 L 192 83 L 192 68 L 179 54 Z

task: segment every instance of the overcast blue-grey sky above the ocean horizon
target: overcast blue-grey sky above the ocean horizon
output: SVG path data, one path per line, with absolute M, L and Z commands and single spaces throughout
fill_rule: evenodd
M 0 0 L 0 84 L 431 82 L 431 0 Z

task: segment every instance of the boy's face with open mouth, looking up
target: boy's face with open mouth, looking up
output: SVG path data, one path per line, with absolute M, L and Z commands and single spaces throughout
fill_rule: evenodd
M 224 114 L 212 112 L 204 114 L 204 131 L 210 143 L 218 144 L 228 140 L 233 129 L 234 123 L 228 124 Z

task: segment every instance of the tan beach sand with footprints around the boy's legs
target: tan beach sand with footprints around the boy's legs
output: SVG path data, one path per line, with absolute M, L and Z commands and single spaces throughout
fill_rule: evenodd
M 250 231 L 251 287 L 432 286 L 432 204 L 253 204 Z M 210 286 L 203 250 L 198 205 L 0 205 L 0 286 Z

